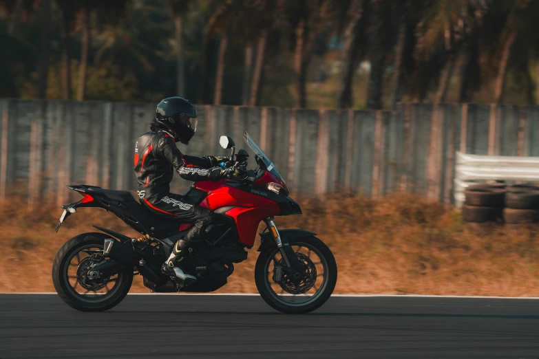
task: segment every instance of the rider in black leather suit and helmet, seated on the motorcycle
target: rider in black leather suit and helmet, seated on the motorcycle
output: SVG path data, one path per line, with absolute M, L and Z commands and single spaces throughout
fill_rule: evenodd
M 170 193 L 173 169 L 189 181 L 219 181 L 237 171 L 223 171 L 221 163 L 228 157 L 184 155 L 176 142 L 189 144 L 195 134 L 198 118 L 195 107 L 180 97 L 165 98 L 158 103 L 156 117 L 150 123 L 150 132 L 141 135 L 135 144 L 135 173 L 138 197 L 151 212 L 164 217 L 176 217 L 183 223 L 193 223 L 184 239 L 173 247 L 163 263 L 162 272 L 182 281 L 195 281 L 195 276 L 184 272 L 182 261 L 189 259 L 193 250 L 202 244 L 202 229 L 212 221 L 211 210 L 185 201 L 182 195 Z M 184 261 L 185 262 L 185 261 Z

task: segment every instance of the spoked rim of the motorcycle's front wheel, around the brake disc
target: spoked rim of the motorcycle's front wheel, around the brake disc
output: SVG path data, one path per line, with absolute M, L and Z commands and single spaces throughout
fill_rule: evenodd
M 271 294 L 271 296 L 273 296 L 273 298 L 275 298 L 275 300 L 284 305 L 299 307 L 313 303 L 324 293 L 326 287 L 328 286 L 329 269 L 328 262 L 321 252 L 314 246 L 308 243 L 297 242 L 291 245 L 291 247 L 293 248 L 294 252 L 299 252 L 306 255 L 310 259 L 311 263 L 316 266 L 315 283 L 304 294 L 287 293 L 282 285 L 275 283 L 275 281 L 273 281 L 273 275 L 275 274 L 275 263 L 278 264 L 282 259 L 281 252 L 278 249 L 271 253 L 266 261 L 266 265 L 264 265 L 264 279 L 268 292 Z M 314 261 L 312 254 L 315 254 L 317 257 L 315 257 Z M 277 259 L 275 257 L 277 257 Z

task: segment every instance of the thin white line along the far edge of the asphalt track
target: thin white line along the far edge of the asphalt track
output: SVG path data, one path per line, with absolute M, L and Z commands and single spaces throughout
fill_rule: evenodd
M 54 295 L 56 292 L 0 292 L 0 295 Z M 257 293 L 129 293 L 129 296 L 260 296 Z M 468 299 L 531 299 L 537 296 L 439 296 L 434 294 L 332 294 L 341 298 L 468 298 Z

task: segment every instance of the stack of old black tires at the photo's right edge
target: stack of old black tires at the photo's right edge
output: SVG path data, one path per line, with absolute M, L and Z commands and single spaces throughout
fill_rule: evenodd
M 507 188 L 503 221 L 506 224 L 539 223 L 539 186 L 518 184 Z

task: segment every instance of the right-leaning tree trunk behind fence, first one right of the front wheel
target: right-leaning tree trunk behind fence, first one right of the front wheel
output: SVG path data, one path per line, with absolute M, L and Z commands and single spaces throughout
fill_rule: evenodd
M 352 79 L 357 66 L 357 52 L 359 47 L 359 28 L 361 23 L 361 10 L 363 0 L 354 0 L 350 5 L 350 21 L 344 30 L 343 71 L 339 85 L 338 107 L 344 109 L 352 106 Z

